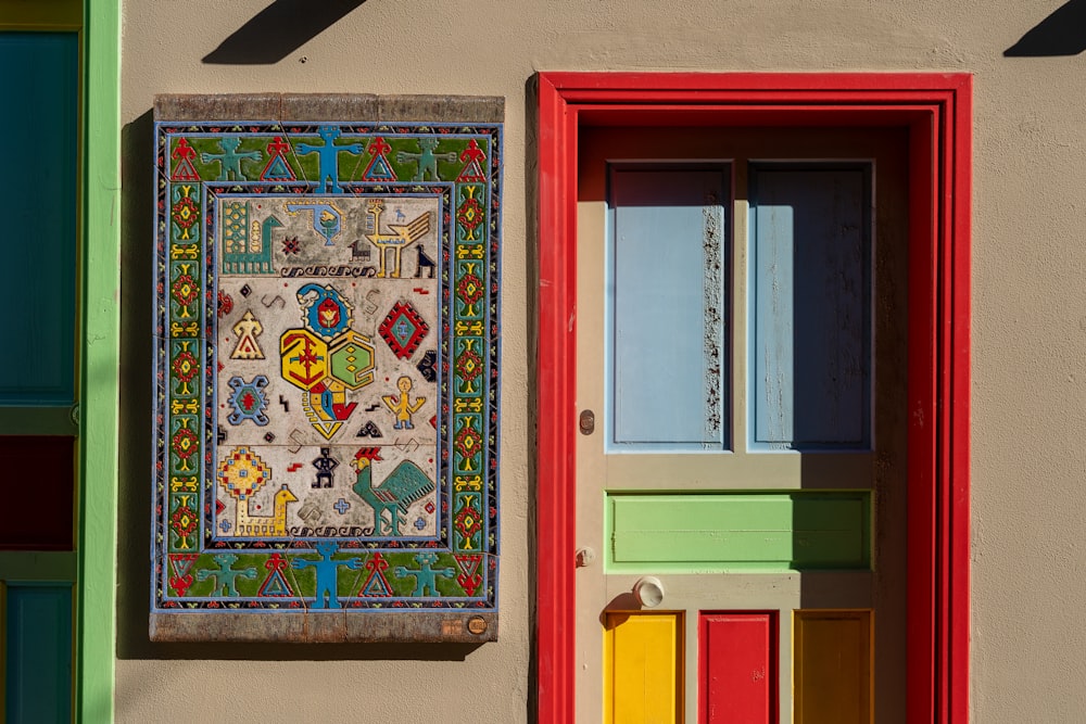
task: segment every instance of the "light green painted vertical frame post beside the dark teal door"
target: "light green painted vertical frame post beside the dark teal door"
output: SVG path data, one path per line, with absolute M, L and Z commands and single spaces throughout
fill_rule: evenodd
M 121 393 L 121 0 L 84 0 L 75 720 L 112 722 Z M 91 371 L 94 371 L 91 374 Z M 102 374 L 102 370 L 111 373 Z

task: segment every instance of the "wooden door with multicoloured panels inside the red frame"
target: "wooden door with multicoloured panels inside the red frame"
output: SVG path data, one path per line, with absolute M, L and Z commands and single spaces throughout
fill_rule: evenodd
M 904 721 L 907 136 L 578 155 L 578 721 Z

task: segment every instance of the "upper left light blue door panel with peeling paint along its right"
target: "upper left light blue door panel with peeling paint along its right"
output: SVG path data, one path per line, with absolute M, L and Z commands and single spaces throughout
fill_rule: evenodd
M 618 449 L 728 443 L 724 179 L 613 168 L 605 346 Z

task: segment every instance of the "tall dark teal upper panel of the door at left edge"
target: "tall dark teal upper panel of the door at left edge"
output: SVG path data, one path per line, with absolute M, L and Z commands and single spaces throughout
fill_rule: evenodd
M 74 394 L 78 72 L 75 33 L 0 33 L 0 404 Z

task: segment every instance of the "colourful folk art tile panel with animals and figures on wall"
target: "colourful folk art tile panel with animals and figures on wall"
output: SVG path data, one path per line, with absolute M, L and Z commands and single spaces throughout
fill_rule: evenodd
M 155 139 L 152 637 L 494 638 L 501 125 Z

